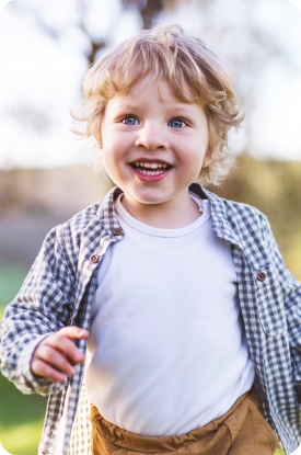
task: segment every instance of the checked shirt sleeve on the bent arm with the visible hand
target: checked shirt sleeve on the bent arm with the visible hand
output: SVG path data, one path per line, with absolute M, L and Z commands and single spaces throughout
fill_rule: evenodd
M 53 229 L 0 326 L 2 373 L 23 394 L 46 395 L 65 385 L 38 378 L 30 368 L 37 344 L 70 319 L 74 273 L 63 247 L 60 227 Z

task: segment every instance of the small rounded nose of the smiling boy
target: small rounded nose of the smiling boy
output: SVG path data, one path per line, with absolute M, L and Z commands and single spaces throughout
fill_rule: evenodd
M 158 150 L 167 148 L 167 138 L 164 127 L 157 123 L 147 123 L 141 125 L 137 132 L 135 145 L 148 150 Z

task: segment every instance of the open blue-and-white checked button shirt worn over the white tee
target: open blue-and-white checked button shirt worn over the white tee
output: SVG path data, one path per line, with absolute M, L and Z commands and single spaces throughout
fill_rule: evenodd
M 301 442 L 301 285 L 285 268 L 264 215 L 197 184 L 190 190 L 209 198 L 213 230 L 231 243 L 256 386 L 267 421 L 292 453 Z M 1 323 L 3 374 L 24 394 L 49 394 L 39 455 L 90 453 L 84 366 L 57 384 L 33 376 L 30 361 L 49 332 L 67 325 L 89 330 L 97 266 L 107 247 L 124 237 L 113 205 L 119 193 L 112 190 L 48 234 Z M 86 340 L 78 345 L 85 352 Z

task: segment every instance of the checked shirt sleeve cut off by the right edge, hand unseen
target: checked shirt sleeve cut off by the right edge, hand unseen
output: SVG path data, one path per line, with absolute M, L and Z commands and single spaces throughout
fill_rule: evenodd
M 292 360 L 292 373 L 298 401 L 301 402 L 301 283 L 286 269 L 268 223 L 265 225 L 271 262 L 278 273 L 282 289 L 285 311 L 288 325 L 289 345 Z

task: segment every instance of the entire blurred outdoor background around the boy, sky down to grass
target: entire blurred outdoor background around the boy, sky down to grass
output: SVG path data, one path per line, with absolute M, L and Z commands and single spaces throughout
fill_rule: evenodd
M 201 37 L 231 75 L 245 121 L 216 191 L 268 215 L 301 280 L 301 0 L 0 0 L 0 318 L 47 230 L 109 185 L 70 132 L 89 66 L 155 23 Z M 0 441 L 33 455 L 45 399 L 1 375 L 0 397 Z

